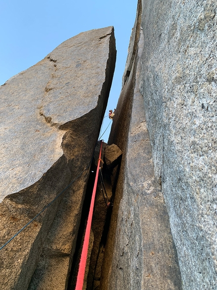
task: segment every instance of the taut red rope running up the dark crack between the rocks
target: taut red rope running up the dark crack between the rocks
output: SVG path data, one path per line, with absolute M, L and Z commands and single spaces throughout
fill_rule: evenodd
M 94 207 L 94 200 L 95 200 L 95 195 L 96 195 L 96 186 L 97 186 L 98 175 L 99 175 L 99 165 L 101 161 L 100 158 L 101 158 L 101 151 L 102 151 L 102 141 L 100 142 L 101 142 L 101 146 L 100 146 L 98 164 L 97 164 L 97 169 L 96 169 L 96 178 L 95 178 L 95 182 L 93 186 L 93 193 L 92 193 L 92 198 L 91 198 L 91 203 L 90 203 L 90 210 L 89 210 L 89 215 L 88 215 L 88 220 L 87 220 L 87 227 L 86 227 L 86 232 L 84 236 L 84 244 L 83 244 L 82 253 L 81 253 L 81 260 L 79 264 L 75 290 L 82 290 L 83 283 L 84 283 L 84 274 L 85 274 L 87 252 L 88 252 L 88 245 L 89 245 L 89 238 L 90 238 L 90 228 L 91 228 L 91 223 L 92 223 L 93 207 Z

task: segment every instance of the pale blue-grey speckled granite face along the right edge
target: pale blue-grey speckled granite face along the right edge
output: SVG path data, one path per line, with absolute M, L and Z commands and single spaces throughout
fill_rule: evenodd
M 142 1 L 144 97 L 183 289 L 216 289 L 216 1 Z

